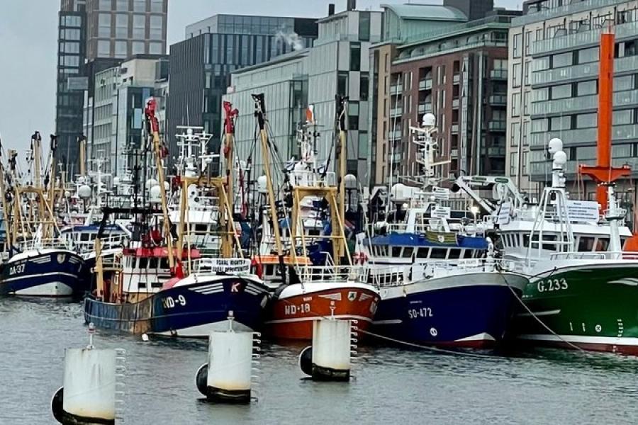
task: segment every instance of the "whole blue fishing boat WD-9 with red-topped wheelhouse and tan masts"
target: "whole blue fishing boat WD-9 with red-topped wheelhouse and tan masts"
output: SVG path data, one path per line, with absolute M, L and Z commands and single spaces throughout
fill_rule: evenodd
M 154 101 L 149 101 L 145 112 L 158 181 L 164 182 Z M 186 166 L 182 167 L 183 173 L 179 176 L 181 210 L 177 222 L 177 248 L 173 247 L 166 188 L 159 183 L 152 189 L 150 198 L 156 198 L 162 205 L 162 230 L 150 229 L 139 244 L 125 248 L 121 265 L 105 265 L 98 256 L 99 286 L 96 296 L 86 298 L 84 302 L 86 322 L 135 334 L 208 336 L 212 330 L 228 329 L 230 316 L 235 329 L 259 329 L 269 293 L 262 280 L 250 273 L 250 260 L 243 259 L 241 250 L 237 249 L 232 208 L 226 195 L 227 182 L 206 177 L 210 163 L 206 160 L 206 142 L 194 134 L 193 129 L 180 136 L 180 144 L 188 154 L 181 157 L 181 164 Z M 201 258 L 198 249 L 189 245 L 193 241 L 188 238 L 186 209 L 189 193 L 210 193 L 212 189 L 218 196 L 216 217 L 221 229 L 221 258 Z M 116 211 L 105 208 L 104 220 Z M 149 212 L 133 211 L 142 216 Z M 166 244 L 162 244 L 164 239 Z M 99 246 L 98 238 L 96 247 Z M 233 257 L 234 248 L 239 254 L 237 257 Z M 111 268 L 118 271 L 118 279 L 113 283 L 105 282 L 102 275 L 105 269 Z M 125 280 L 127 274 L 130 279 Z

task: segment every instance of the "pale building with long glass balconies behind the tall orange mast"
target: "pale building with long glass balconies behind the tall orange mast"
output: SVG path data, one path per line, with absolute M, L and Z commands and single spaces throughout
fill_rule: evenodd
M 524 10 L 510 29 L 507 174 L 537 193 L 551 180 L 547 143 L 559 137 L 568 187 L 576 197 L 595 199 L 595 183 L 578 176 L 578 164 L 596 162 L 598 45 L 610 26 L 616 37 L 613 162 L 638 168 L 638 1 L 535 0 Z M 628 202 L 632 184 L 617 186 Z

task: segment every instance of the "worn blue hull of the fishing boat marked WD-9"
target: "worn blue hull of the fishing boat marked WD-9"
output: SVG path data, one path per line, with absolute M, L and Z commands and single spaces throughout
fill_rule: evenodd
M 207 337 L 213 330 L 257 330 L 263 324 L 268 289 L 257 280 L 228 276 L 200 278 L 150 294 L 139 302 L 84 300 L 84 321 L 132 334 Z

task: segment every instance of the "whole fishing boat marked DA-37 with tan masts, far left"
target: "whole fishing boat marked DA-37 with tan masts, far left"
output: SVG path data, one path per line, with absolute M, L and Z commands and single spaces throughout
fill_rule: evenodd
M 4 167 L 0 170 L 4 222 L 11 222 L 6 229 L 9 259 L 0 266 L 0 295 L 81 297 L 89 290 L 88 270 L 82 257 L 60 239 L 53 210 L 56 137 L 51 137 L 48 182 L 42 179 L 41 142 L 35 132 L 29 157 L 32 181 L 18 179 L 15 151 L 9 152 L 11 186 L 6 186 Z

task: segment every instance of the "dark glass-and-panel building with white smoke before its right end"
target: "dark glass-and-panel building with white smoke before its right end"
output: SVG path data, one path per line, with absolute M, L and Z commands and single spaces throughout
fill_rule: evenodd
M 312 18 L 218 15 L 186 28 L 186 40 L 170 47 L 171 151 L 176 152 L 177 125 L 188 124 L 213 133 L 210 149 L 218 152 L 222 96 L 230 85 L 230 73 L 310 47 L 317 36 L 318 25 Z

